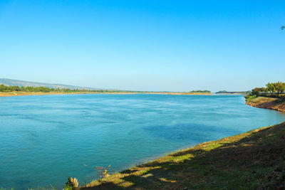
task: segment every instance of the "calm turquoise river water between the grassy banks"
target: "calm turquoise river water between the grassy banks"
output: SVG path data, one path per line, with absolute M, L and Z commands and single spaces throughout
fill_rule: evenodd
M 242 95 L 45 95 L 0 97 L 0 188 L 62 187 L 285 115 Z

